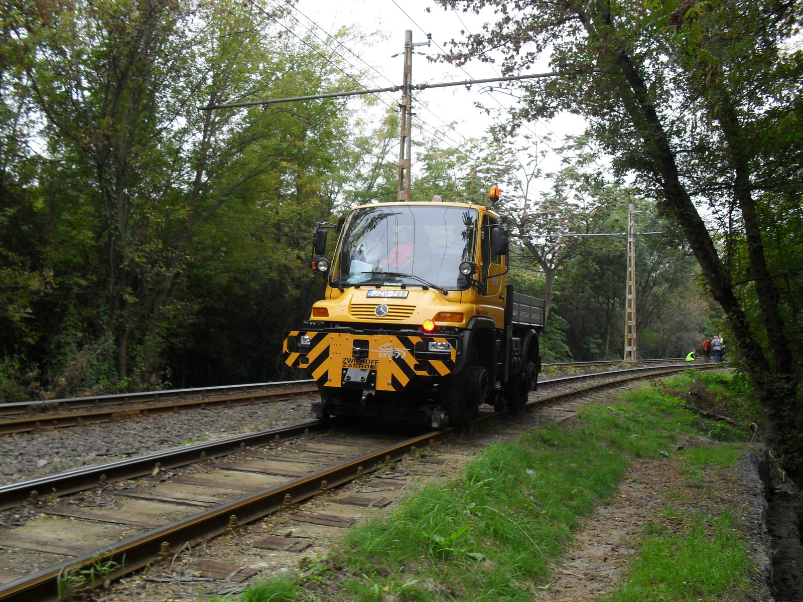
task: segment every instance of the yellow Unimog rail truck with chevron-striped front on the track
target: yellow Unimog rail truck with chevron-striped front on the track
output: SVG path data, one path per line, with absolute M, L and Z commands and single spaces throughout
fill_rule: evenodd
M 440 428 L 467 424 L 483 403 L 527 403 L 540 372 L 544 301 L 506 284 L 499 214 L 440 197 L 361 205 L 337 226 L 320 225 L 312 247 L 312 270 L 328 279 L 325 298 L 287 332 L 283 360 L 315 379 L 317 417 Z

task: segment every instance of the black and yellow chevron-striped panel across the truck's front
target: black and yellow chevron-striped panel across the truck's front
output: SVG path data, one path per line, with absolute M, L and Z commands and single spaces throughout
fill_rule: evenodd
M 301 350 L 297 346 L 300 335 L 310 337 L 309 348 Z M 358 340 L 368 341 L 368 357 L 354 357 L 354 343 Z M 449 339 L 293 331 L 284 340 L 282 359 L 292 368 L 307 368 L 322 386 L 340 387 L 344 368 L 361 368 L 376 371 L 377 390 L 402 391 L 416 376 L 446 376 L 454 370 L 454 347 L 449 359 L 416 359 L 415 344 L 430 340 L 446 342 Z

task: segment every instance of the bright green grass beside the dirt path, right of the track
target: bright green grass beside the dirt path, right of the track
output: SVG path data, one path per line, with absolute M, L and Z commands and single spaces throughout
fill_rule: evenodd
M 578 413 L 581 426 L 534 429 L 491 445 L 454 482 L 406 495 L 391 515 L 350 530 L 328 558 L 302 563 L 294 584 L 263 581 L 259 596 L 249 588 L 251 597 L 240 600 L 532 600 L 579 519 L 609 497 L 629 458 L 658 458 L 668 449 L 683 455 L 690 478 L 736 461 L 738 450 L 724 445 L 675 452 L 677 434 L 707 433 L 711 425 L 683 409 L 671 389 L 661 390 L 589 406 Z M 625 597 L 611 602 L 707 600 L 741 583 L 746 552 L 729 515 L 677 515 L 673 524 L 683 532 L 646 527 L 642 554 L 616 595 Z

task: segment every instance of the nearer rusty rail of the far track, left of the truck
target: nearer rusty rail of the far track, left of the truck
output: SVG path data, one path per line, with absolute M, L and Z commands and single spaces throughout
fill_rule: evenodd
M 265 393 L 253 393 L 238 397 L 211 397 L 210 399 L 200 399 L 194 401 L 173 401 L 161 405 L 138 405 L 132 408 L 116 408 L 97 410 L 94 412 L 71 412 L 67 414 L 45 414 L 44 416 L 29 416 L 12 420 L 0 421 L 0 434 L 26 433 L 28 431 L 39 431 L 42 429 L 58 429 L 65 426 L 81 426 L 88 424 L 99 424 L 101 422 L 114 422 L 126 420 L 137 416 L 148 414 L 165 414 L 177 412 L 181 409 L 194 408 L 214 408 L 234 405 L 251 405 L 254 403 L 265 403 L 265 397 L 273 399 L 271 401 L 286 401 L 294 397 L 305 397 L 310 393 L 318 393 L 317 388 L 280 388 L 276 391 Z

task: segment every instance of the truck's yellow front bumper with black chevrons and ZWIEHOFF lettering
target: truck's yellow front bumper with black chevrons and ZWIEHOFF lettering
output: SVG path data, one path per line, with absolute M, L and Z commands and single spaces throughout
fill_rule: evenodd
M 300 345 L 303 336 L 308 345 Z M 430 351 L 430 341 L 449 349 Z M 453 372 L 462 345 L 459 336 L 291 331 L 282 359 L 291 368 L 307 368 L 321 387 L 399 392 Z

